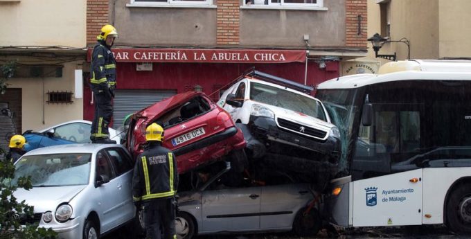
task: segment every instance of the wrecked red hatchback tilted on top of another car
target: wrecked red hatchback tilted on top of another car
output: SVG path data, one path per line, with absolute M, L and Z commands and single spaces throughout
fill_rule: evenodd
M 151 123 L 165 130 L 163 146 L 177 156 L 179 174 L 224 156 L 232 164 L 247 161 L 242 131 L 202 92 L 177 94 L 134 113 L 125 142 L 134 159 L 145 147 L 145 127 Z

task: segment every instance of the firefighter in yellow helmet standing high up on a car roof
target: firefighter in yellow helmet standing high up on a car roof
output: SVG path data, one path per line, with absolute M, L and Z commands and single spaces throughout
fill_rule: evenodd
M 116 61 L 111 48 L 118 37 L 112 25 L 105 25 L 98 35 L 98 43 L 91 53 L 90 85 L 94 92 L 95 116 L 91 124 L 92 143 L 116 143 L 109 139 L 108 125 L 113 116 L 113 98 L 116 88 Z

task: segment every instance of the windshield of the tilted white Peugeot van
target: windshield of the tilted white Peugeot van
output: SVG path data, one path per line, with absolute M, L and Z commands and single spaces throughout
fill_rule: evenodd
M 250 99 L 326 121 L 326 114 L 324 114 L 319 101 L 302 94 L 295 94 L 292 91 L 252 82 L 250 85 Z

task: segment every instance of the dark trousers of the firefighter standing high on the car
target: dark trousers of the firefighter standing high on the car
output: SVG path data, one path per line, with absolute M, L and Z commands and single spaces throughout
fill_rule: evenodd
M 108 125 L 113 116 L 113 97 L 108 91 L 94 91 L 95 116 L 91 123 L 91 141 L 109 138 Z

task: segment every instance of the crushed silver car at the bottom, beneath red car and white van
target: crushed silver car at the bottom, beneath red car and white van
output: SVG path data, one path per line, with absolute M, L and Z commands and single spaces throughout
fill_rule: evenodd
M 195 191 L 179 193 L 177 238 L 290 230 L 317 234 L 321 220 L 309 184 L 256 186 L 260 182 L 245 179 L 244 186 L 226 186 L 229 170 L 228 165 Z

